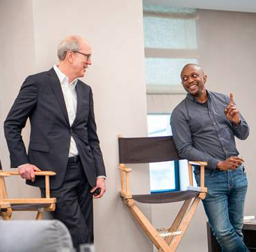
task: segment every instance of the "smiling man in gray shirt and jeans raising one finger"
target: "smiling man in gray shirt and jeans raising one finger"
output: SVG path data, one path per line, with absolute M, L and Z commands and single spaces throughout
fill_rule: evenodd
M 181 78 L 187 94 L 170 119 L 173 140 L 182 158 L 208 163 L 208 194 L 202 202 L 223 251 L 248 251 L 241 233 L 247 178 L 234 141 L 234 136 L 240 140 L 248 137 L 248 124 L 232 94 L 205 89 L 207 75 L 200 66 L 185 65 Z M 200 168 L 195 167 L 194 173 L 200 183 Z

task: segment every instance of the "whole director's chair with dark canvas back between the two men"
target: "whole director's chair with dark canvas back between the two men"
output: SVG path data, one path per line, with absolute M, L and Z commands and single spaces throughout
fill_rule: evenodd
M 173 142 L 173 138 L 166 137 L 129 137 L 118 136 L 119 160 L 122 201 L 127 205 L 132 215 L 143 228 L 145 234 L 150 238 L 158 251 L 176 251 L 186 228 L 189 226 L 193 214 L 201 199 L 205 199 L 207 188 L 205 187 L 205 166 L 207 162 L 189 162 L 189 184 L 188 190 L 180 192 L 169 192 L 159 194 L 132 195 L 130 191 L 130 167 L 125 164 L 164 162 L 180 160 Z M 193 186 L 192 165 L 200 166 L 200 187 Z M 140 203 L 172 203 L 184 201 L 177 217 L 170 228 L 157 230 L 143 215 L 135 201 Z

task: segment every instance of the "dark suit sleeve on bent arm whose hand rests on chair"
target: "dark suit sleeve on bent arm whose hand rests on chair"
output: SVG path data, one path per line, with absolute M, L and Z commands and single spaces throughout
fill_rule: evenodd
M 22 84 L 6 121 L 4 121 L 4 134 L 10 152 L 10 167 L 18 167 L 29 162 L 21 134 L 37 101 L 38 87 L 33 78 L 28 77 Z

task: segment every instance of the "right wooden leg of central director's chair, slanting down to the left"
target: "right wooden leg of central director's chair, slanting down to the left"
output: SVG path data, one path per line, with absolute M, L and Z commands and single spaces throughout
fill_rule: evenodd
M 170 244 L 171 251 L 176 251 L 177 246 L 179 245 L 180 240 L 182 240 L 182 237 L 186 232 L 186 228 L 189 226 L 189 223 L 195 213 L 196 208 L 198 208 L 200 201 L 201 199 L 198 197 L 194 199 L 191 207 L 189 208 L 189 212 L 187 212 L 186 217 L 184 217 L 182 224 L 179 226 L 179 230 L 182 231 L 182 235 L 175 236 Z

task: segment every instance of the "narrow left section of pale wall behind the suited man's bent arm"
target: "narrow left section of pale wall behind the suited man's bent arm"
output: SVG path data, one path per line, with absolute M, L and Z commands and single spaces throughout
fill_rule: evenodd
M 0 158 L 3 169 L 10 167 L 9 153 L 3 135 L 3 121 L 17 96 L 19 87 L 24 78 L 34 72 L 34 42 L 33 42 L 33 13 L 31 1 L 0 1 Z M 29 140 L 29 124 L 23 131 L 24 142 Z M 10 187 L 10 195 L 25 196 L 29 194 L 38 196 L 39 191 L 33 191 L 24 185 L 21 178 L 6 180 Z M 34 213 L 29 214 L 31 217 Z M 17 219 L 29 216 L 27 213 L 18 212 Z

